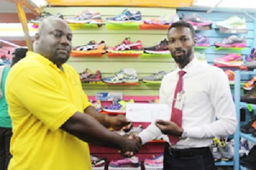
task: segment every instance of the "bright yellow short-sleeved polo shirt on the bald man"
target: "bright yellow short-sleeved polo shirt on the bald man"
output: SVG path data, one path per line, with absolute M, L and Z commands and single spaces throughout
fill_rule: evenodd
M 13 128 L 9 170 L 91 169 L 87 143 L 59 129 L 91 105 L 76 71 L 62 67 L 33 52 L 12 67 L 5 89 Z

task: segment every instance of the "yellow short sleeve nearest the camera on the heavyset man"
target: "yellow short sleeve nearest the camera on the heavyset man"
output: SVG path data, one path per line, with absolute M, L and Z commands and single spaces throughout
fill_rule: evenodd
M 24 69 L 12 80 L 11 92 L 20 107 L 56 131 L 75 112 L 77 107 L 63 94 L 49 71 Z

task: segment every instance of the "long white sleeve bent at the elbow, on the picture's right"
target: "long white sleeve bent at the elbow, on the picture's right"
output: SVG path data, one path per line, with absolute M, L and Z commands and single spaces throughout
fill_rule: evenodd
M 210 101 L 215 109 L 216 121 L 185 129 L 187 137 L 212 138 L 231 135 L 236 131 L 236 108 L 231 96 L 227 75 L 221 69 L 210 79 Z

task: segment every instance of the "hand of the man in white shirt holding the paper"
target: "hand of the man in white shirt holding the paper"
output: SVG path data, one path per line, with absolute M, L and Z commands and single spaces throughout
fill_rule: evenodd
M 182 127 L 177 126 L 175 122 L 156 120 L 155 124 L 156 126 L 158 126 L 160 131 L 165 135 L 181 136 L 183 133 Z

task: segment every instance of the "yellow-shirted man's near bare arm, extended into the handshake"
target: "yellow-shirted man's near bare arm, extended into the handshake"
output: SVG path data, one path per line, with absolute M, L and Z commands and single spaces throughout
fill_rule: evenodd
M 133 154 L 136 154 L 139 150 L 139 143 L 136 140 L 126 139 L 126 137 L 109 131 L 91 116 L 80 112 L 76 112 L 68 119 L 61 129 L 85 142 L 117 148 L 124 156 L 125 152 L 132 151 Z

